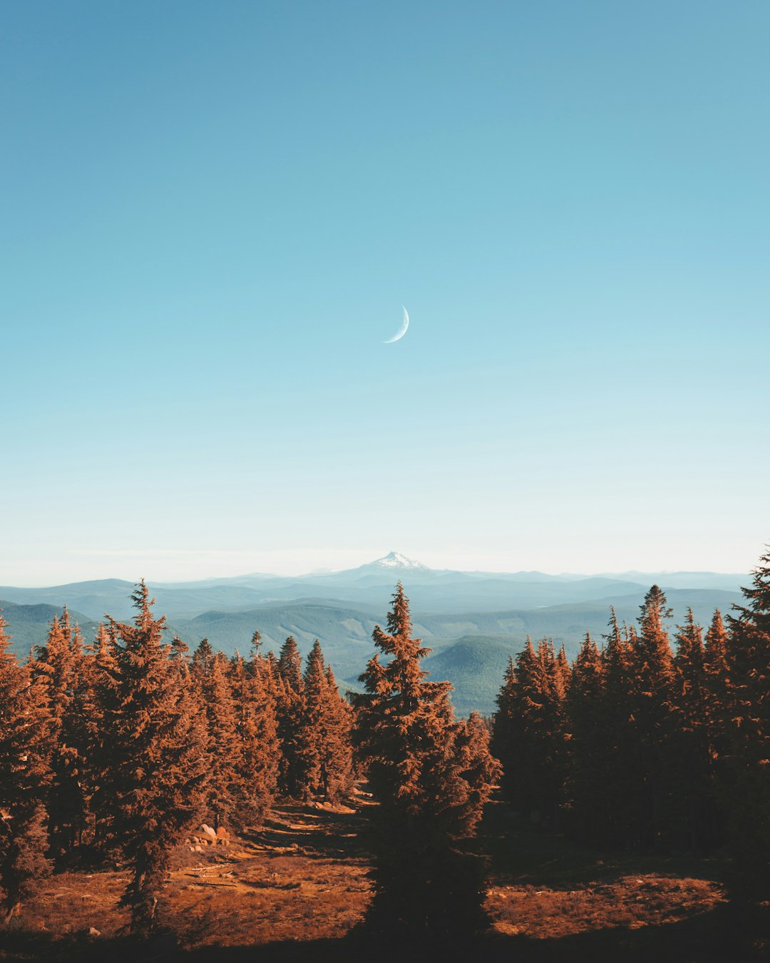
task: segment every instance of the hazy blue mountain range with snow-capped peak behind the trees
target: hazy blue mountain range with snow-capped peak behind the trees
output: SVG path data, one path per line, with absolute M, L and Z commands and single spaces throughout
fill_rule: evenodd
M 719 607 L 741 600 L 748 575 L 715 572 L 626 572 L 603 575 L 546 575 L 543 572 L 489 573 L 430 569 L 396 552 L 343 572 L 287 578 L 244 575 L 192 583 L 149 583 L 155 611 L 168 617 L 169 632 L 194 647 L 201 638 L 228 654 L 248 651 L 254 629 L 273 650 L 295 636 L 307 652 L 315 638 L 337 675 L 355 685 L 373 652 L 372 629 L 384 624 L 397 581 L 409 596 L 415 632 L 431 646 L 425 668 L 455 686 L 461 713 L 491 712 L 508 655 L 529 635 L 552 637 L 574 656 L 585 632 L 600 637 L 610 605 L 621 620 L 638 615 L 653 584 L 666 590 L 673 624 L 687 606 L 707 622 Z M 13 648 L 29 651 L 46 636 L 64 605 L 86 638 L 109 612 L 133 614 L 132 583 L 117 579 L 48 588 L 0 586 L 0 608 L 9 623 Z

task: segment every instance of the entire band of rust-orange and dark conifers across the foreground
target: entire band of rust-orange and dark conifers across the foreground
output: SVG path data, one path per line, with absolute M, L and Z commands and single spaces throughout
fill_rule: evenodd
M 632 850 L 727 851 L 735 919 L 767 941 L 770 555 L 745 604 L 669 636 L 664 593 L 638 625 L 610 612 L 569 664 L 543 639 L 511 658 L 492 719 L 454 716 L 428 682 L 397 586 L 379 650 L 344 698 L 317 642 L 226 658 L 165 640 L 146 586 L 133 622 L 90 644 L 64 610 L 26 660 L 0 618 L 0 886 L 9 924 L 39 880 L 75 863 L 129 869 L 121 903 L 152 931 L 169 856 L 227 839 L 278 799 L 344 800 L 366 779 L 377 934 L 483 929 L 468 846 L 495 785 L 546 831 Z M 489 731 L 492 731 L 491 742 Z

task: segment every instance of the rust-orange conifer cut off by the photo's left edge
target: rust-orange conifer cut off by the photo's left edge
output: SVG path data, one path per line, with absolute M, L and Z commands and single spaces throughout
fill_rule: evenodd
M 51 717 L 44 682 L 10 651 L 0 613 L 0 883 L 6 919 L 51 871 L 47 813 Z

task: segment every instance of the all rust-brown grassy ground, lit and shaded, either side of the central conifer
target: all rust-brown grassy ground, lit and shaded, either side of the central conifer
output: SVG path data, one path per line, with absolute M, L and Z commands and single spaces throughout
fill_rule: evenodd
M 57 873 L 26 903 L 15 928 L 0 933 L 0 959 L 392 958 L 355 935 L 370 890 L 359 839 L 368 799 L 358 794 L 354 805 L 282 806 L 232 846 L 202 853 L 180 846 L 158 907 L 167 935 L 150 947 L 121 935 L 127 914 L 116 901 L 125 873 Z M 723 949 L 718 861 L 600 859 L 514 819 L 501 803 L 489 807 L 476 849 L 490 856 L 493 924 L 476 958 L 740 959 Z M 398 955 L 412 958 L 408 950 Z

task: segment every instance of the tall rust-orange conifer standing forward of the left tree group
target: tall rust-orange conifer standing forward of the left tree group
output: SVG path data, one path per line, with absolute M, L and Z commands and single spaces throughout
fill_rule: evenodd
M 165 616 L 154 618 L 143 582 L 132 595 L 134 624 L 111 619 L 116 638 L 116 702 L 109 711 L 113 746 L 112 830 L 129 860 L 131 879 L 121 900 L 132 929 L 154 922 L 167 876 L 169 850 L 200 817 L 206 781 L 205 747 L 181 674 L 163 642 Z

